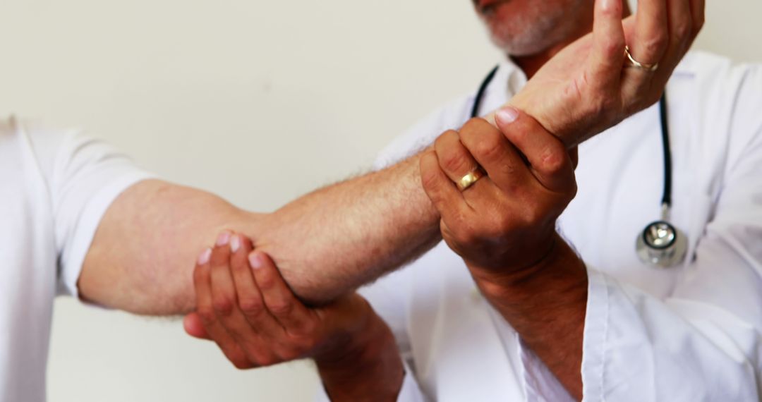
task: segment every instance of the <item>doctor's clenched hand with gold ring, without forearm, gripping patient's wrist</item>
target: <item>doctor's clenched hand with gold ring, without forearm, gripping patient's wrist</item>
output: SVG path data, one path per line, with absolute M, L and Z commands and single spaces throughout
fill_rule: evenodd
M 497 123 L 502 132 L 472 119 L 443 133 L 421 158 L 421 180 L 444 240 L 472 273 L 506 275 L 549 255 L 577 187 L 575 160 L 536 120 L 507 107 Z M 456 183 L 479 167 L 486 176 L 460 191 Z

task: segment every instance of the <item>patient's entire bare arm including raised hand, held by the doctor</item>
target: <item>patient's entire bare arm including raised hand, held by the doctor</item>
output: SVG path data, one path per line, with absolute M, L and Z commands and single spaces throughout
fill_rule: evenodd
M 639 10 L 665 1 L 641 0 Z M 698 32 L 642 24 L 645 18 L 622 22 L 620 0 L 603 3 L 597 2 L 594 33 L 546 63 L 510 102 L 569 146 L 655 102 Z M 699 11 L 700 22 L 703 7 Z M 623 73 L 624 40 L 632 35 L 654 43 L 671 38 L 657 73 Z M 83 298 L 112 308 L 141 314 L 191 311 L 198 250 L 230 228 L 270 254 L 297 295 L 327 302 L 431 247 L 439 240 L 438 221 L 421 187 L 418 156 L 308 194 L 271 215 L 149 180 L 110 206 L 78 286 Z

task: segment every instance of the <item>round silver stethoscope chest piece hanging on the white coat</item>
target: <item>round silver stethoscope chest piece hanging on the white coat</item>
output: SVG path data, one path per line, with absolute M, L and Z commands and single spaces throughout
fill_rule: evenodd
M 661 268 L 669 268 L 682 262 L 687 250 L 687 236 L 666 221 L 657 221 L 646 226 L 636 242 L 640 260 Z

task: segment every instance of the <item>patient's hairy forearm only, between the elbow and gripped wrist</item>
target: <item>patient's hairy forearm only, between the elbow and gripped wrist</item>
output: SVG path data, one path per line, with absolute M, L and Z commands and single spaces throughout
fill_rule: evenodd
M 376 279 L 440 240 L 418 156 L 303 196 L 267 215 L 251 235 L 296 294 L 317 303 Z

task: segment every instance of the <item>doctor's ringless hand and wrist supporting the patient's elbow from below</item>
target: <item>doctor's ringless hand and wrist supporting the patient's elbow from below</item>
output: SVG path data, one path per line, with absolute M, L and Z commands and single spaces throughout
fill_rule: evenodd
M 184 327 L 239 369 L 314 359 L 331 400 L 395 400 L 404 369 L 389 327 L 357 293 L 308 308 L 267 254 L 225 231 L 194 271 L 197 312 Z M 370 396 L 369 396 L 370 395 Z

